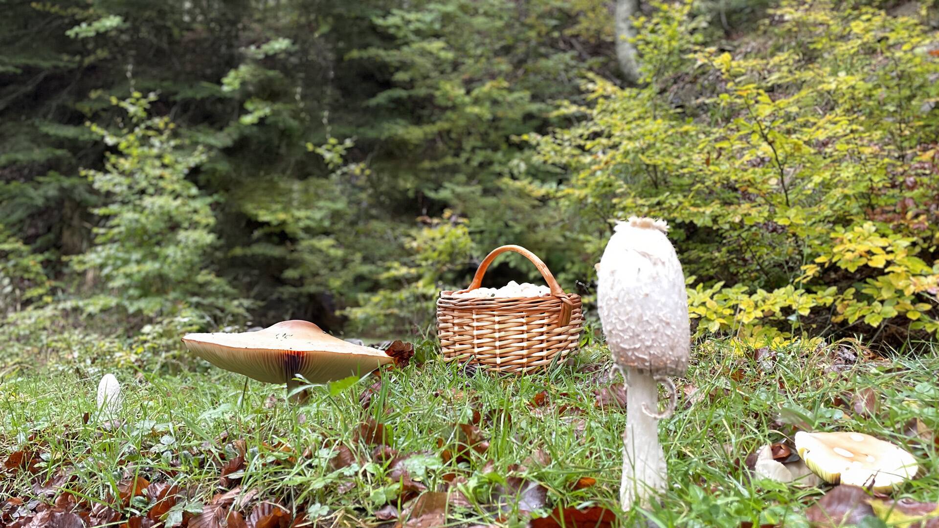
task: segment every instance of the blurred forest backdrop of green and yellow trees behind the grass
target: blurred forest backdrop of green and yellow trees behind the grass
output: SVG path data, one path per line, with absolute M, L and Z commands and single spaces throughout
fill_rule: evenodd
M 935 2 L 0 9 L 0 358 L 429 334 L 504 243 L 591 303 L 630 214 L 672 225 L 698 335 L 939 335 Z

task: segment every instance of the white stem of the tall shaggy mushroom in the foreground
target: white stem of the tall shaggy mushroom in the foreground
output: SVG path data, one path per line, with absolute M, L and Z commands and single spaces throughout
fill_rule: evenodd
M 626 430 L 623 431 L 623 511 L 667 487 L 665 455 L 658 443 L 658 383 L 651 374 L 626 367 Z

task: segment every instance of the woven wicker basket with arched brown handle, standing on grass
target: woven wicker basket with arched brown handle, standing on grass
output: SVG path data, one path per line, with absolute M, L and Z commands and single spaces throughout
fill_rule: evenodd
M 486 268 L 506 251 L 531 260 L 550 287 L 550 295 L 454 297 L 454 293 L 480 287 Z M 580 296 L 564 293 L 545 263 L 516 245 L 495 249 L 479 265 L 468 288 L 441 291 L 437 300 L 437 331 L 444 360 L 499 372 L 528 374 L 562 362 L 577 349 L 582 327 Z

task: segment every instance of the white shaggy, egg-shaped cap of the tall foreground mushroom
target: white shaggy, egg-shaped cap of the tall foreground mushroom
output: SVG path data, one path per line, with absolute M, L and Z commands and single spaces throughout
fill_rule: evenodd
M 616 225 L 597 270 L 597 308 L 616 363 L 681 376 L 690 352 L 685 274 L 664 220 Z

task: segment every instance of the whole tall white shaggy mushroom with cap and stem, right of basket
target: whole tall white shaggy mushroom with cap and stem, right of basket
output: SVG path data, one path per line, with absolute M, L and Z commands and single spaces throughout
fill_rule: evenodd
M 658 420 L 674 409 L 669 376 L 685 373 L 690 352 L 685 274 L 662 220 L 630 218 L 616 225 L 597 266 L 597 307 L 616 364 L 623 369 L 623 509 L 667 488 Z M 657 412 L 658 382 L 670 390 L 670 406 Z

